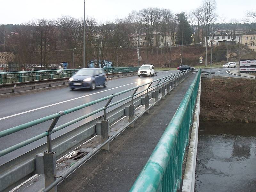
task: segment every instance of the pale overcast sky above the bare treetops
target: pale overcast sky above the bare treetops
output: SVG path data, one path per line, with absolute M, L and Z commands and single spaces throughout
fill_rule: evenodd
M 240 21 L 255 0 L 216 0 L 217 14 L 226 22 Z M 202 0 L 85 0 L 85 17 L 98 22 L 124 18 L 132 10 L 147 7 L 169 8 L 174 13 L 199 7 Z M 84 17 L 84 0 L 0 0 L 0 24 L 21 24 L 37 19 L 57 19 L 61 15 Z

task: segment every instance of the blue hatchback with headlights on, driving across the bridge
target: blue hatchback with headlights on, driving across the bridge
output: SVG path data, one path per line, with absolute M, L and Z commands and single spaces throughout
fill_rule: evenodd
M 107 87 L 108 81 L 103 69 L 100 68 L 82 68 L 75 75 L 69 78 L 69 87 L 95 89 L 96 86 L 103 85 Z

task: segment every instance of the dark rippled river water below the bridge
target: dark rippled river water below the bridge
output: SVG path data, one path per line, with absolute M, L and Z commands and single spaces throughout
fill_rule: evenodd
M 256 124 L 199 124 L 195 191 L 256 191 Z

